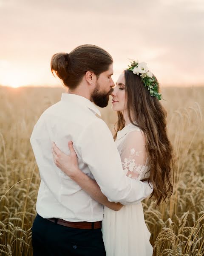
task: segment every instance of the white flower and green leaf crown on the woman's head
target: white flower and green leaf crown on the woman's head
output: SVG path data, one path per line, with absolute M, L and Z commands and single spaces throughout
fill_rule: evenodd
M 134 74 L 141 77 L 142 82 L 144 83 L 144 87 L 150 91 L 151 96 L 155 96 L 157 99 L 161 99 L 161 94 L 158 91 L 158 82 L 156 81 L 156 77 L 153 76 L 153 73 L 148 70 L 147 64 L 145 62 L 133 61 L 131 62 L 131 66 L 128 65 L 129 68 L 127 70 L 133 71 Z

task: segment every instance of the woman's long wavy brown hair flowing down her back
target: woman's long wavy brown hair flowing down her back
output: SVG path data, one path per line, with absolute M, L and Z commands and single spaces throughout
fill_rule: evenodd
M 169 198 L 173 192 L 173 175 L 171 173 L 174 172 L 174 156 L 173 147 L 167 137 L 167 113 L 159 100 L 150 96 L 140 76 L 133 74 L 130 70 L 125 70 L 125 91 L 130 122 L 136 122 L 144 132 L 148 165 L 150 166 L 148 171 L 150 175 L 147 180 L 153 184 L 150 198 L 154 197 L 156 206 L 158 206 L 162 199 L 166 202 L 166 198 Z M 125 126 L 125 119 L 120 111 L 118 111 L 116 124 L 117 134 Z

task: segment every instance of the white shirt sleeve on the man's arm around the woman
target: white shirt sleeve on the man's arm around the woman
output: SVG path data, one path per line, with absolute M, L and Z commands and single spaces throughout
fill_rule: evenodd
M 132 204 L 152 193 L 148 182 L 125 175 L 111 131 L 102 119 L 95 119 L 84 129 L 76 147 L 109 201 Z

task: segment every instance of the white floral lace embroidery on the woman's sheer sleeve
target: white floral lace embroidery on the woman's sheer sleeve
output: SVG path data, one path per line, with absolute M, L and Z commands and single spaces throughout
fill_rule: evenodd
M 135 152 L 135 149 L 132 148 L 130 150 L 129 158 L 125 158 L 124 162 L 122 162 L 123 170 L 127 175 L 127 177 L 130 177 L 130 178 L 132 177 L 132 174 L 127 174 L 127 172 L 133 172 L 134 174 L 136 174 L 134 175 L 133 179 L 138 179 L 138 180 L 141 179 L 142 173 L 144 172 L 146 165 L 136 164 L 135 159 L 132 159 L 133 157 L 138 157 L 140 152 L 141 151 Z

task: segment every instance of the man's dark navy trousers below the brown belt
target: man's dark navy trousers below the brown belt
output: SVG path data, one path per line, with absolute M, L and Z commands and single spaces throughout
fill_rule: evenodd
M 37 214 L 32 227 L 34 256 L 105 256 L 101 229 L 78 229 Z

